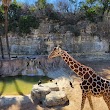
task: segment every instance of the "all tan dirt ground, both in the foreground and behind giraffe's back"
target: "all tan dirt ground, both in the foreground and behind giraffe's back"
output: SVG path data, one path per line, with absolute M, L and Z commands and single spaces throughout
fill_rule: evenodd
M 94 61 L 94 62 L 82 62 L 82 63 L 92 67 L 102 77 L 110 79 L 110 61 Z M 28 104 L 23 104 L 23 105 L 19 105 L 19 104 L 12 105 L 7 109 L 4 108 L 1 110 L 80 110 L 82 92 L 79 83 L 81 82 L 81 80 L 79 77 L 76 77 L 75 75 L 73 75 L 72 77 L 74 78 L 74 82 L 73 82 L 74 88 L 67 86 L 64 89 L 67 94 L 67 97 L 69 98 L 69 104 L 66 106 L 47 108 L 47 107 L 43 107 L 38 103 L 30 102 Z M 65 85 L 64 84 L 65 82 L 62 83 L 63 85 Z M 107 105 L 102 97 L 101 98 L 92 97 L 92 101 L 93 101 L 94 110 L 108 110 Z M 91 110 L 88 100 L 86 100 L 85 102 L 84 110 Z

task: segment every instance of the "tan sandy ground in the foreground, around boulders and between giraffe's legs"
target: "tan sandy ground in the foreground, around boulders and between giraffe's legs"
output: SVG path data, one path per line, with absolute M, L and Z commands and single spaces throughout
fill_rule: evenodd
M 80 79 L 75 77 L 74 80 L 74 89 L 70 86 L 65 88 L 65 92 L 67 97 L 69 98 L 69 105 L 63 107 L 55 107 L 55 108 L 47 108 L 40 104 L 36 103 L 26 103 L 26 104 L 15 104 L 10 106 L 9 108 L 3 108 L 0 110 L 80 110 L 81 107 L 81 89 L 79 86 Z M 64 83 L 63 83 L 64 84 Z M 108 110 L 103 98 L 92 97 L 94 110 Z M 85 102 L 84 110 L 91 110 L 88 100 Z

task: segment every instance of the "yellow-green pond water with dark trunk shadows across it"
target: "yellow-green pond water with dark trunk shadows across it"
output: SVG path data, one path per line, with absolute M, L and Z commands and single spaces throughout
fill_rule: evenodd
M 26 95 L 30 94 L 34 84 L 41 80 L 48 82 L 44 76 L 11 76 L 0 78 L 0 95 Z

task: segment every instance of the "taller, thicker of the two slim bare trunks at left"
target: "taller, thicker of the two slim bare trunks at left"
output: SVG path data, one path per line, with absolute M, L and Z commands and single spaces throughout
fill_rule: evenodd
M 9 40 L 7 34 L 8 34 L 8 8 L 5 7 L 5 37 L 6 37 L 8 57 L 10 59 L 10 47 L 9 47 Z

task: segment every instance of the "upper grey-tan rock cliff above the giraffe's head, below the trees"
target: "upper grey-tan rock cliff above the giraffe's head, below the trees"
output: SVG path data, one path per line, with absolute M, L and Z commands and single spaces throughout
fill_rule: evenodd
M 92 36 L 94 26 L 90 23 L 78 23 L 80 35 L 75 36 L 69 31 L 71 25 L 61 26 L 58 23 L 42 22 L 39 29 L 33 30 L 28 36 L 19 37 L 9 34 L 11 55 L 47 55 L 56 45 L 69 53 L 105 54 L 109 52 L 109 41 L 99 36 Z M 2 38 L 4 52 L 7 54 L 6 41 Z M 1 51 L 0 51 L 1 52 Z

